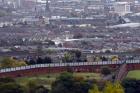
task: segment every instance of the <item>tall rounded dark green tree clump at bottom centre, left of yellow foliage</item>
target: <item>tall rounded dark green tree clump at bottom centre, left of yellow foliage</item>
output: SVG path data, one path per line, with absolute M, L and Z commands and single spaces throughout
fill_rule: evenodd
M 89 85 L 77 80 L 72 73 L 62 73 L 52 84 L 51 93 L 88 93 Z

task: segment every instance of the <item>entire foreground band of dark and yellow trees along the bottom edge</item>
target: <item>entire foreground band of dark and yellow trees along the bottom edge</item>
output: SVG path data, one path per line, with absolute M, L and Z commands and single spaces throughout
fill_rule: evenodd
M 51 89 L 30 80 L 21 85 L 12 78 L 0 78 L 0 93 L 140 93 L 140 80 L 120 82 L 86 80 L 64 72 L 52 83 Z

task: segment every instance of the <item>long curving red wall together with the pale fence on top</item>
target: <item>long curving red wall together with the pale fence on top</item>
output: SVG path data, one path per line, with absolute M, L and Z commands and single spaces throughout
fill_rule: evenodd
M 64 71 L 73 72 L 100 72 L 103 66 L 109 66 L 112 69 L 118 69 L 124 61 L 121 62 L 99 62 L 99 63 L 63 63 L 63 64 L 40 64 L 17 68 L 7 68 L 0 70 L 0 77 L 25 77 L 41 75 L 48 73 L 61 73 Z M 140 69 L 140 61 L 127 61 L 127 70 Z

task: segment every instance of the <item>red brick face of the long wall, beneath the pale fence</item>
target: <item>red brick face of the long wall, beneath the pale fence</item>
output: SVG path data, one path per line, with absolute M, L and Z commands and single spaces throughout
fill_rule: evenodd
M 118 68 L 119 65 L 109 65 L 110 68 Z M 25 77 L 33 75 L 42 75 L 48 73 L 61 73 L 64 71 L 73 72 L 97 72 L 101 71 L 102 66 L 74 66 L 74 67 L 52 67 L 52 68 L 33 68 L 28 70 L 13 71 L 7 73 L 0 73 L 0 77 Z M 128 70 L 140 69 L 140 64 L 127 64 Z

